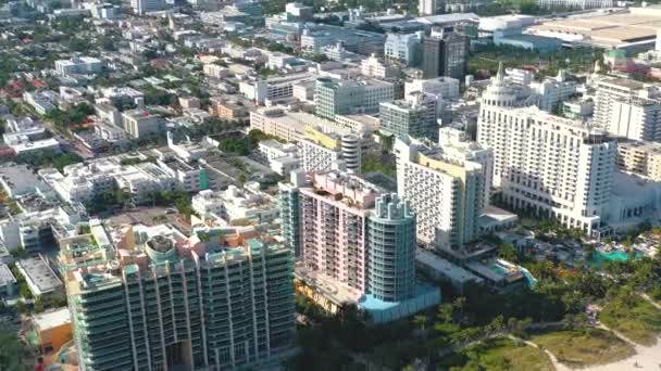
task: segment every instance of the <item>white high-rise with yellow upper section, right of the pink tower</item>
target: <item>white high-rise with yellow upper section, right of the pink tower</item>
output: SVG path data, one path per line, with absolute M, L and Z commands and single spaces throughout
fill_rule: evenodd
M 483 166 L 410 139 L 396 139 L 395 154 L 397 193 L 417 216 L 417 240 L 449 252 L 474 241 L 485 207 Z

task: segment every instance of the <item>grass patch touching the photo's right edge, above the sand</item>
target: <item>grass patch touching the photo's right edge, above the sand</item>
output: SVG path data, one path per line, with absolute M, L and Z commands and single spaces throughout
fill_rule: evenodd
M 599 314 L 599 320 L 645 346 L 657 344 L 661 333 L 661 310 L 641 297 L 634 297 L 626 305 L 609 302 Z

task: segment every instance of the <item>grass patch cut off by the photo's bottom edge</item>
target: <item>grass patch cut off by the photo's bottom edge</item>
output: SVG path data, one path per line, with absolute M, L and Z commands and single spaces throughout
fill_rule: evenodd
M 553 364 L 544 350 L 507 337 L 489 338 L 444 357 L 441 369 L 551 371 Z

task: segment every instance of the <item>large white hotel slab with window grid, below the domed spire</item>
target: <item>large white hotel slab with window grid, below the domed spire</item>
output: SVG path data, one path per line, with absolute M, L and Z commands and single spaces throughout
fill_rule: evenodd
M 590 234 L 611 196 L 616 141 L 537 107 L 483 105 L 477 142 L 494 149 L 494 186 L 515 208 Z

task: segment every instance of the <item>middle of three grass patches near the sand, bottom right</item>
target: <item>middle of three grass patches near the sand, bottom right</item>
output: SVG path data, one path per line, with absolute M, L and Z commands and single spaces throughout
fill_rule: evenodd
M 531 341 L 573 368 L 612 363 L 636 354 L 629 344 L 600 329 L 547 332 Z

